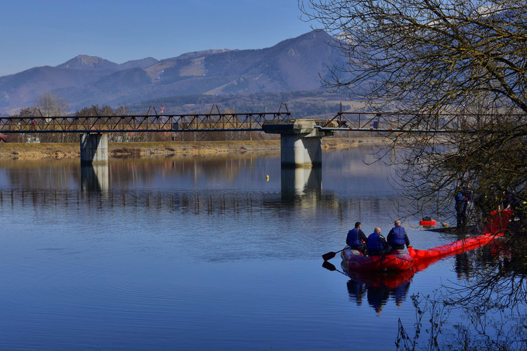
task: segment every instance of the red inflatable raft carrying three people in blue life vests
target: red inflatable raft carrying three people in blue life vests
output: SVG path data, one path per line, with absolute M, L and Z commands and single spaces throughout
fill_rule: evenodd
M 410 270 L 414 259 L 406 251 L 394 250 L 389 255 L 365 256 L 357 250 L 346 247 L 340 257 L 346 261 L 348 268 L 354 270 Z

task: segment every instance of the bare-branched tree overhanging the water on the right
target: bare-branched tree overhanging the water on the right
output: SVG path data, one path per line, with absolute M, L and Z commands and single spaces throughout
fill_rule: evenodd
M 459 128 L 389 135 L 408 214 L 434 204 L 436 216 L 452 216 L 457 185 L 469 183 L 485 209 L 501 206 L 503 192 L 526 200 L 525 1 L 299 0 L 299 7 L 349 58 L 331 67 L 327 88 L 362 94 L 370 110 L 405 114 L 408 131 L 440 122 Z

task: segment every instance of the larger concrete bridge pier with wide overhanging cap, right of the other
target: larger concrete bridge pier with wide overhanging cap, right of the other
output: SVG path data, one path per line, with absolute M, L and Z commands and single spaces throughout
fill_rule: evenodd
M 264 132 L 280 134 L 282 167 L 322 165 L 322 138 L 333 135 L 333 132 L 320 131 L 315 125 L 315 121 L 308 119 L 263 123 Z

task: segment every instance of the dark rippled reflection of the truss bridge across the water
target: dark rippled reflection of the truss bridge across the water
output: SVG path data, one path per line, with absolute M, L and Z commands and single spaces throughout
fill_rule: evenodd
M 318 172 L 312 170 L 315 174 Z M 342 197 L 336 192 L 321 192 L 321 183 L 314 186 L 308 177 L 304 188 L 297 187 L 295 192 L 289 187 L 282 192 L 215 192 L 198 190 L 141 190 L 132 188 L 112 188 L 108 179 L 112 178 L 106 170 L 85 168 L 77 173 L 81 180 L 74 188 L 0 188 L 0 206 L 31 206 L 34 208 L 63 208 L 64 206 L 82 206 L 83 208 L 103 210 L 106 208 L 130 208 L 132 211 L 174 211 L 181 214 L 200 215 L 223 213 L 248 213 L 249 215 L 273 208 L 304 207 L 332 209 L 336 220 L 360 218 L 360 213 L 381 215 L 393 208 L 393 199 L 379 201 L 377 197 Z M 111 170 L 110 170 L 111 173 Z M 101 176 L 102 175 L 102 176 Z M 115 177 L 115 176 L 114 176 Z M 297 178 L 298 179 L 298 178 Z M 305 178 L 304 178 L 305 179 Z M 72 182 L 72 180 L 69 180 Z M 108 185 L 110 183 L 110 185 Z

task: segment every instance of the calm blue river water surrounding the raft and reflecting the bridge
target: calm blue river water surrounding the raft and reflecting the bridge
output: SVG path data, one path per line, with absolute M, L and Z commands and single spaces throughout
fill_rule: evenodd
M 399 321 L 415 333 L 411 296 L 469 270 L 456 257 L 402 277 L 349 277 L 338 255 L 322 267 L 357 220 L 392 227 L 393 169 L 365 164 L 371 151 L 297 171 L 243 155 L 1 161 L 0 349 L 395 349 Z M 403 226 L 416 249 L 452 241 Z

